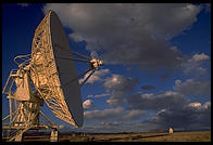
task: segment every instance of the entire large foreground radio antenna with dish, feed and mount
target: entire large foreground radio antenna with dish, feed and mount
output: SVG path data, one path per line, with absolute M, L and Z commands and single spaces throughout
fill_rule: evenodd
M 73 54 L 84 58 L 74 58 Z M 77 75 L 73 61 L 89 64 L 88 70 Z M 18 69 L 12 69 L 2 93 L 9 98 L 10 114 L 2 119 L 7 141 L 22 141 L 27 130 L 51 129 L 50 141 L 58 141 L 58 129 L 41 110 L 43 102 L 55 117 L 74 127 L 84 122 L 80 87 L 102 65 L 70 49 L 62 24 L 53 11 L 49 11 L 35 30 L 32 54 L 14 58 Z M 78 79 L 90 72 L 79 84 Z M 42 124 L 42 117 L 48 124 Z

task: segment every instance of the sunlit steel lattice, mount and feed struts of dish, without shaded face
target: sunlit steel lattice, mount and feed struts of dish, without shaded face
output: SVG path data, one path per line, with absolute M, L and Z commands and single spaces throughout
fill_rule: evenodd
M 14 58 L 18 69 L 11 70 L 3 88 L 2 93 L 7 94 L 9 98 L 10 108 L 10 114 L 2 119 L 2 122 L 9 120 L 8 124 L 3 124 L 3 130 L 15 130 L 9 134 L 8 141 L 22 141 L 23 133 L 29 129 L 53 129 L 51 141 L 58 141 L 59 127 L 40 110 L 43 102 L 58 118 L 76 127 L 64 101 L 55 57 L 89 63 L 89 69 L 75 78 L 79 79 L 90 71 L 80 87 L 102 65 L 102 61 L 88 57 L 73 50 L 73 54 L 84 60 L 54 56 L 52 48 L 55 43 L 51 41 L 50 14 L 51 11 L 35 30 L 32 54 L 20 55 Z M 49 122 L 49 126 L 40 123 L 40 116 Z

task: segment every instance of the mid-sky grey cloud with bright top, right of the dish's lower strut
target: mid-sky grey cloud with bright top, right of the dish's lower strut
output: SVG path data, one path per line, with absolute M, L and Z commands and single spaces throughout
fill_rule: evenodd
M 126 78 L 122 75 L 112 75 L 103 83 L 103 87 L 110 93 L 110 98 L 106 103 L 111 106 L 122 105 L 125 102 L 125 96 L 134 90 L 137 83 L 137 79 Z

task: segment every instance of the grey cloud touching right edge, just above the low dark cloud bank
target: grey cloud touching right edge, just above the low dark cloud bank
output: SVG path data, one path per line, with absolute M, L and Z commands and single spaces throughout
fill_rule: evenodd
M 211 94 L 211 81 L 187 79 L 185 82 L 181 82 L 181 80 L 176 80 L 174 90 L 185 95 L 209 96 Z

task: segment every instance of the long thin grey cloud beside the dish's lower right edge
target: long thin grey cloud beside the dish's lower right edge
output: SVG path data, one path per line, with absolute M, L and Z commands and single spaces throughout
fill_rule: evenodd
M 116 108 L 108 108 L 103 110 L 91 110 L 91 111 L 85 111 L 84 116 L 86 119 L 105 119 L 110 117 L 117 117 L 123 113 L 122 107 L 116 107 Z

